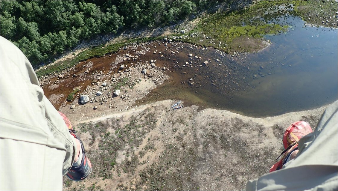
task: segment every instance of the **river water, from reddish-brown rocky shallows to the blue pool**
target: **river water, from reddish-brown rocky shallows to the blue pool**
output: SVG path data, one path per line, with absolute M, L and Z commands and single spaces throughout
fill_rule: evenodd
M 143 65 L 148 69 L 147 80 L 156 82 L 158 76 L 151 77 L 151 72 L 155 70 L 150 66 L 150 60 L 156 60 L 155 68 L 163 70 L 166 67 L 163 71 L 170 78 L 163 84 L 159 83 L 161 85 L 143 99 L 137 100 L 136 105 L 177 99 L 184 101 L 186 106 L 225 109 L 250 116 L 272 116 L 320 107 L 337 100 L 337 29 L 304 27 L 304 21 L 293 16 L 275 22 L 289 25 L 289 31 L 266 36 L 272 44 L 258 53 L 224 54 L 212 47 L 169 42 L 169 38 L 168 41 L 133 44 L 115 54 L 81 62 L 70 71 L 70 76 L 75 73 L 83 76 L 81 78 L 58 80 L 54 77 L 51 82 L 57 85 L 50 83 L 44 86 L 45 93 L 49 99 L 61 95 L 53 103 L 59 107 L 74 85 L 81 85 L 82 90 L 91 86 L 96 75 L 84 74 L 88 63 L 92 63 L 91 72 L 109 72 L 112 75 L 122 64 L 125 69 Z M 252 39 L 245 39 L 248 43 L 252 42 Z M 120 60 L 116 64 L 117 58 L 126 54 L 138 55 L 138 59 Z M 208 63 L 205 64 L 205 61 Z M 116 68 L 112 69 L 112 66 Z M 141 74 L 141 70 L 139 72 Z M 108 75 L 102 79 L 109 82 L 111 78 Z M 136 78 L 130 80 L 136 81 Z

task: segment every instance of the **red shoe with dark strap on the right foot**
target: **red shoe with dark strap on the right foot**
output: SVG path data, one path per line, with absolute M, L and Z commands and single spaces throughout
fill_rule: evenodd
M 283 165 L 287 162 L 290 154 L 298 149 L 299 139 L 311 132 L 311 126 L 305 121 L 297 121 L 295 123 L 292 123 L 284 132 L 283 146 L 285 150 L 281 153 L 281 155 L 279 155 L 279 157 L 282 156 L 282 154 L 284 155 L 279 162 L 272 165 L 269 172 L 281 169 Z

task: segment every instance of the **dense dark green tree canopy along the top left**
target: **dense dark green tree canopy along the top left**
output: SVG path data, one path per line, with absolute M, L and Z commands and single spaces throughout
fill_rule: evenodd
M 83 39 L 122 28 L 175 23 L 218 1 L 1 0 L 1 36 L 16 44 L 33 65 L 46 63 Z

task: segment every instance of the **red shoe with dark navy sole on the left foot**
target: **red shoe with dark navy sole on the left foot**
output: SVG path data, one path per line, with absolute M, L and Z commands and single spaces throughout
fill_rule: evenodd
M 67 173 L 67 176 L 69 179 L 73 181 L 81 181 L 84 178 L 87 178 L 89 174 L 92 172 L 92 164 L 89 161 L 89 159 L 86 156 L 86 151 L 84 150 L 84 146 L 82 141 L 78 136 L 76 136 L 76 131 L 73 129 L 72 124 L 70 123 L 69 119 L 66 117 L 65 114 L 59 111 L 59 114 L 62 116 L 66 126 L 69 129 L 69 133 L 74 136 L 75 139 L 77 139 L 80 142 L 81 149 L 82 149 L 82 160 L 81 163 L 78 166 L 72 166 L 70 170 Z

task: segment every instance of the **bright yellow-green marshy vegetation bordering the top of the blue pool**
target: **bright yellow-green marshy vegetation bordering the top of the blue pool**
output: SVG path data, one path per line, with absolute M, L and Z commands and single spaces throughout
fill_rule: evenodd
M 278 34 L 287 30 L 288 26 L 268 23 L 268 21 L 289 13 L 300 16 L 312 24 L 325 25 L 319 21 L 320 17 L 325 16 L 325 12 L 328 11 L 337 12 L 337 2 L 332 3 L 325 3 L 325 1 L 258 1 L 244 9 L 220 12 L 204 18 L 188 33 L 196 33 L 199 37 L 203 34 L 207 37 L 211 36 L 212 39 L 215 39 L 212 40 L 215 44 L 204 38 L 202 38 L 203 41 L 200 41 L 199 37 L 189 37 L 181 41 L 201 46 L 213 46 L 225 52 L 254 51 L 255 43 L 246 41 L 247 38 L 258 39 L 267 34 Z M 284 9 L 278 7 L 280 5 L 284 5 Z M 314 12 L 318 14 L 314 14 Z M 311 21 L 307 19 L 310 13 L 314 14 L 314 19 Z M 254 40 L 251 39 L 251 41 Z

